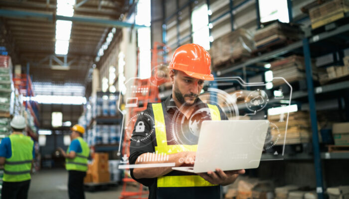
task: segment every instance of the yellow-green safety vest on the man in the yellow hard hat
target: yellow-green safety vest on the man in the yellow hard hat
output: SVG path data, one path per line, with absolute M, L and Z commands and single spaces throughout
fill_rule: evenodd
M 87 171 L 87 162 L 88 156 L 90 154 L 90 148 L 87 143 L 81 138 L 76 138 L 81 146 L 81 153 L 76 153 L 74 159 L 65 159 L 65 168 L 66 170 L 74 170 L 74 171 Z M 69 147 L 67 149 L 67 154 L 69 153 Z

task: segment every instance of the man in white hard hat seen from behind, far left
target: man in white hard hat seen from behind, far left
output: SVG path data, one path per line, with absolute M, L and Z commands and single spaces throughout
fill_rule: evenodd
M 10 122 L 12 133 L 0 144 L 0 165 L 4 165 L 2 199 L 26 199 L 35 156 L 34 142 L 23 135 L 25 119 L 16 115 Z

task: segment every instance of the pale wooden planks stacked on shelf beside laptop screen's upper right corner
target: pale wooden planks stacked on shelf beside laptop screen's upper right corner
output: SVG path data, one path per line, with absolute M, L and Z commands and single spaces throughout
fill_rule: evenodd
M 268 115 L 268 120 L 276 124 L 271 125 L 272 141 L 275 145 L 284 144 L 287 113 L 283 115 Z M 311 141 L 312 131 L 310 116 L 307 111 L 290 112 L 288 118 L 287 135 L 285 144 L 300 144 Z

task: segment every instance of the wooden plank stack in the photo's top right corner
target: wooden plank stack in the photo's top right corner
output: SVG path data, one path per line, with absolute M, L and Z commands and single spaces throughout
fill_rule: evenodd
M 312 28 L 318 28 L 345 17 L 349 11 L 349 0 L 332 0 L 309 10 Z

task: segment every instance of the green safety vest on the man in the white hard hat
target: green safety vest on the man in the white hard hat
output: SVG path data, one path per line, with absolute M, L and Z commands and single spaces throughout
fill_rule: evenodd
M 6 158 L 3 171 L 4 182 L 22 182 L 30 180 L 31 162 L 34 142 L 22 134 L 9 136 L 11 157 Z

